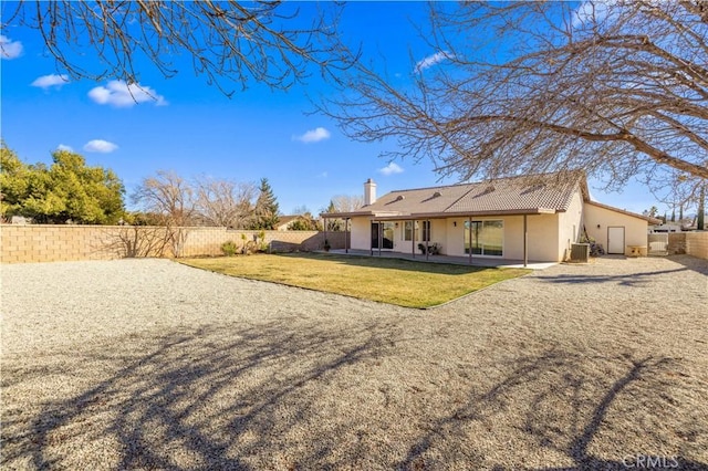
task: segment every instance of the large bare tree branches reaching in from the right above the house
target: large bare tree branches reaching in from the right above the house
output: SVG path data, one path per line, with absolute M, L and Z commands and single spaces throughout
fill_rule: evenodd
M 357 65 L 322 109 L 388 158 L 498 177 L 583 168 L 695 192 L 708 179 L 708 2 L 465 2 L 430 7 L 434 55 L 412 83 Z

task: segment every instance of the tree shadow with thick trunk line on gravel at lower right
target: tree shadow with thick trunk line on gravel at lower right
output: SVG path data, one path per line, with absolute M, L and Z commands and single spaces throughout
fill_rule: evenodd
M 663 415 L 663 405 L 675 405 L 670 391 L 671 380 L 667 380 L 666 376 L 676 375 L 676 359 L 634 359 L 629 355 L 622 355 L 616 358 L 594 358 L 593 362 L 598 362 L 597 366 L 605 371 L 615 369 L 618 365 L 623 371 L 617 371 L 620 375 L 610 383 L 590 374 L 594 368 L 585 366 L 581 356 L 560 349 L 514 359 L 507 365 L 510 371 L 501 380 L 488 389 L 470 395 L 451 414 L 438 418 L 429 427 L 429 431 L 409 447 L 405 460 L 398 463 L 397 469 L 442 469 L 450 464 L 450 457 L 455 457 L 452 468 L 458 469 L 626 470 L 637 468 L 637 457 L 650 457 L 652 462 L 660 462 L 667 469 L 708 470 L 708 462 L 687 459 L 683 456 L 684 450 L 667 452 L 666 448 L 657 447 L 656 443 L 664 442 L 658 428 L 642 429 L 643 437 L 622 443 L 623 433 L 636 433 L 639 425 L 646 427 L 646 421 L 657 421 L 658 416 Z M 592 391 L 597 389 L 598 383 L 602 384 L 601 396 Z M 523 399 L 522 406 L 518 406 L 520 399 Z M 497 460 L 490 460 L 487 453 L 480 451 L 481 447 L 460 452 L 450 446 L 450 437 L 457 437 L 459 446 L 459 437 L 472 438 L 480 432 L 496 433 L 496 421 L 504 420 L 504 410 L 509 407 L 519 409 L 518 420 L 512 423 L 512 428 L 523 431 L 528 441 L 521 444 L 527 447 L 529 456 L 534 454 L 533 447 L 537 447 L 544 452 L 563 457 L 562 461 L 568 461 L 569 464 L 534 465 L 534 460 L 524 457 L 523 452 L 520 457 L 511 457 L 514 439 L 518 441 L 518 437 L 511 435 L 508 441 L 500 440 L 506 449 L 498 450 L 496 454 L 501 458 Z M 611 414 L 613 410 L 614 414 Z M 633 419 L 639 420 L 633 422 Z M 708 423 L 698 422 L 689 427 L 693 427 L 690 431 L 683 432 L 690 440 L 708 433 Z M 594 441 L 607 442 L 615 437 L 618 440 L 615 446 L 611 446 L 613 452 L 610 453 L 614 457 L 595 454 L 592 447 Z M 633 441 L 636 443 L 634 448 L 631 444 Z M 606 453 L 604 447 L 597 448 L 598 452 Z

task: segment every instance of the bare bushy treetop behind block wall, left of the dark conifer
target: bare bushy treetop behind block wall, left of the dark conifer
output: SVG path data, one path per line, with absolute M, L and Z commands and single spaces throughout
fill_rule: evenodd
M 243 229 L 252 222 L 254 184 L 197 178 L 196 210 L 207 226 Z

